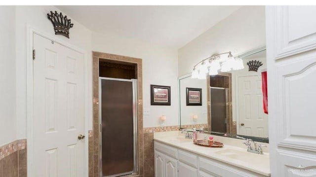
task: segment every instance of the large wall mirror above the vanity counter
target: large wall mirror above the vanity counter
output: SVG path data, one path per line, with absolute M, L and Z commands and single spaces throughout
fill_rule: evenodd
M 198 128 L 233 138 L 268 142 L 268 114 L 264 112 L 262 72 L 266 49 L 259 47 L 238 56 L 244 69 L 207 75 L 206 79 L 179 77 L 180 127 Z M 260 61 L 258 71 L 248 71 Z

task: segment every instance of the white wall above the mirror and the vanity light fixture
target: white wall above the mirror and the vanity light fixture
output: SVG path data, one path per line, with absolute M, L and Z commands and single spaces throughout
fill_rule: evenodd
M 243 6 L 178 50 L 179 76 L 212 54 L 233 55 L 265 45 L 265 6 Z

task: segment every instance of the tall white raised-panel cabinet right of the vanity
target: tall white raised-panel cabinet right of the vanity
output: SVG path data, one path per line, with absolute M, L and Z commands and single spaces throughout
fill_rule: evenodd
M 273 177 L 316 176 L 316 6 L 266 6 Z

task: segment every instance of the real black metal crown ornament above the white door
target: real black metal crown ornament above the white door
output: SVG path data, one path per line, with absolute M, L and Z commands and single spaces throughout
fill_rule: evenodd
M 67 15 L 64 17 L 61 12 L 58 14 L 57 11 L 55 13 L 50 11 L 50 14 L 47 13 L 47 18 L 54 26 L 55 35 L 64 35 L 69 38 L 69 29 L 73 28 L 74 24 L 71 23 L 70 19 L 67 19 Z

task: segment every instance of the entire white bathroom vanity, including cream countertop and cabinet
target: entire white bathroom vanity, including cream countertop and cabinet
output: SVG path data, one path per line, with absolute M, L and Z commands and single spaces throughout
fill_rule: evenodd
M 209 135 L 198 134 L 198 139 Z M 154 133 L 155 177 L 269 177 L 268 149 L 247 152 L 244 140 L 213 136 L 224 147 L 199 146 L 181 131 Z M 266 145 L 265 143 L 261 143 Z

